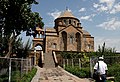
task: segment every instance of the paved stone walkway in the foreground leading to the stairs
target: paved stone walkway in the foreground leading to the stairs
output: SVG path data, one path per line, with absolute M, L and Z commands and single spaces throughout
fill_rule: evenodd
M 90 79 L 80 79 L 64 69 L 57 68 L 40 68 L 37 67 L 37 73 L 31 82 L 94 82 Z

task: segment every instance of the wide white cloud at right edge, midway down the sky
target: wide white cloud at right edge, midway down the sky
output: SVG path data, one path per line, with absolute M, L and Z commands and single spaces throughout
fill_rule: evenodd
M 118 21 L 116 18 L 112 18 L 106 22 L 103 22 L 102 24 L 97 25 L 97 27 L 102 27 L 106 30 L 117 30 L 120 28 L 120 21 Z

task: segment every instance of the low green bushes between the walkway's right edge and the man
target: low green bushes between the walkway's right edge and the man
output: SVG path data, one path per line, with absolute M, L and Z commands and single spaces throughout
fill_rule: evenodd
M 90 77 L 90 68 L 82 68 L 80 69 L 79 67 L 71 67 L 68 66 L 65 68 L 68 72 L 80 77 L 80 78 L 88 78 Z

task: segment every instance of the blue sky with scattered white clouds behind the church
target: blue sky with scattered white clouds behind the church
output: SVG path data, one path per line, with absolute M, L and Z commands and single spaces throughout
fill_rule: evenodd
M 94 36 L 95 50 L 98 45 L 120 51 L 120 0 L 37 0 L 33 12 L 39 12 L 45 27 L 54 27 L 54 19 L 66 7 L 82 23 L 83 29 Z

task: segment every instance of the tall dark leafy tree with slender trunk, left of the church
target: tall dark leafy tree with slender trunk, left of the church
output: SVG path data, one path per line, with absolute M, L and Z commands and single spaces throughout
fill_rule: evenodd
M 0 37 L 5 37 L 8 42 L 8 53 L 12 53 L 12 43 L 26 31 L 26 35 L 32 35 L 36 25 L 43 27 L 42 18 L 38 13 L 31 11 L 32 4 L 38 4 L 36 0 L 0 0 Z

